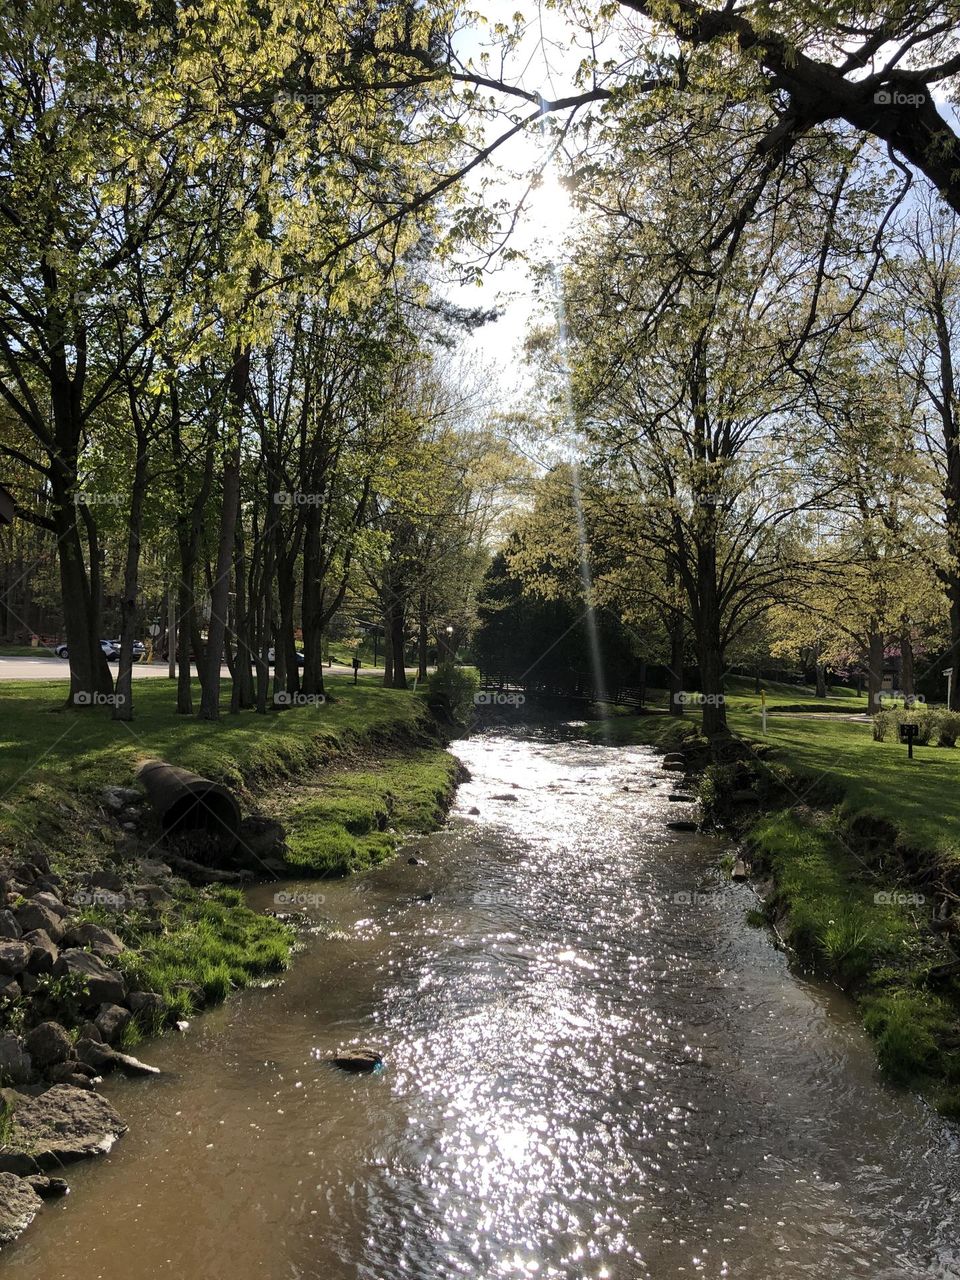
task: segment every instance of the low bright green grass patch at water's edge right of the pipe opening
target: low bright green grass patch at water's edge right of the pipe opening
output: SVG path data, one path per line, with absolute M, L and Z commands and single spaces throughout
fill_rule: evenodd
M 384 861 L 404 832 L 440 824 L 457 780 L 445 751 L 420 749 L 375 768 L 325 776 L 284 808 L 287 860 L 314 876 L 346 876 Z

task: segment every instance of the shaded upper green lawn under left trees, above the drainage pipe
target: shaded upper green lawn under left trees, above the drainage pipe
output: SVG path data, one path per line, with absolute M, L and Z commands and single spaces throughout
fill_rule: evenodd
M 218 722 L 177 716 L 165 677 L 137 681 L 134 719 L 108 708 L 64 705 L 65 681 L 0 684 L 0 847 L 44 837 L 45 818 L 88 801 L 105 785 L 129 786 L 137 765 L 161 758 L 239 790 L 302 773 L 361 739 L 416 735 L 424 699 L 346 676 L 326 681 L 330 701 Z M 196 690 L 198 698 L 198 689 Z

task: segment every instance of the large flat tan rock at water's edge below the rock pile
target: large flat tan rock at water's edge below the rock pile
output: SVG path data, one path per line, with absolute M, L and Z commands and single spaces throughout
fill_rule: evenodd
M 127 1125 L 99 1093 L 54 1084 L 33 1098 L 17 1096 L 9 1146 L 33 1165 L 27 1172 L 37 1174 L 105 1155 L 125 1132 Z

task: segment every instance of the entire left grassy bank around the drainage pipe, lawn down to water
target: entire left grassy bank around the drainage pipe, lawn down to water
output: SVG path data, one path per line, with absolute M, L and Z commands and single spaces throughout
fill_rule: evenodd
M 163 876 L 150 896 L 137 881 L 142 859 L 164 859 L 159 828 L 147 822 L 125 831 L 104 804 L 104 787 L 132 787 L 142 760 L 168 759 L 278 819 L 293 873 L 333 876 L 366 869 L 406 832 L 435 827 L 456 786 L 457 762 L 442 750 L 425 699 L 372 682 L 333 677 L 321 707 L 216 723 L 177 716 L 165 678 L 136 685 L 132 724 L 111 721 L 106 709 L 67 708 L 65 690 L 61 681 L 0 685 L 0 864 L 12 886 L 52 876 L 52 886 L 41 887 L 55 888 L 69 922 L 109 928 L 123 941 L 128 950 L 116 965 L 128 988 L 161 997 L 125 1028 L 127 1044 L 282 970 L 294 934 L 248 910 L 237 890 Z M 91 905 L 93 883 L 111 888 Z M 10 905 L 24 901 L 14 887 Z M 77 1027 L 78 995 L 65 980 L 44 979 L 0 1000 L 0 1029 L 19 1034 L 41 1014 Z

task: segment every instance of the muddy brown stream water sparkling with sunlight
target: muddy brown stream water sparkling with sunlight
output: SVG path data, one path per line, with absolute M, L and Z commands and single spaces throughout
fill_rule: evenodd
M 570 730 L 454 750 L 472 781 L 448 826 L 370 876 L 282 886 L 332 934 L 146 1046 L 161 1078 L 106 1084 L 131 1133 L 0 1270 L 960 1276 L 956 1132 L 745 923 L 717 844 L 666 828 L 676 776 Z M 324 1062 L 349 1043 L 383 1074 Z

